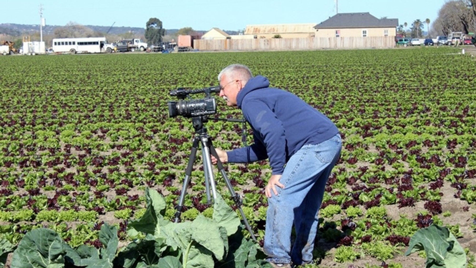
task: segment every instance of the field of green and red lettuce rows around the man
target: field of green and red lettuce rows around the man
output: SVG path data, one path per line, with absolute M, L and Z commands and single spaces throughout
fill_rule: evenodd
M 218 172 L 223 199 L 207 204 L 199 154 L 181 223 L 170 221 L 194 129 L 169 118 L 169 90 L 218 85 L 222 68 L 241 63 L 342 133 L 307 268 L 436 267 L 429 251 L 405 256 L 410 238 L 432 226 L 449 230 L 475 267 L 476 61 L 458 52 L 1 57 L 0 266 L 267 267 L 267 161 L 225 165 L 257 243 Z M 211 118 L 241 118 L 217 103 Z M 206 128 L 217 148 L 242 145 L 241 123 L 210 119 Z

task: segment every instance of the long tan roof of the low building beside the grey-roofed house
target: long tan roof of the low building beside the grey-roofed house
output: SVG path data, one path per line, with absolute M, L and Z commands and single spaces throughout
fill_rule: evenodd
M 307 33 L 316 32 L 315 23 L 254 24 L 247 25 L 245 34 Z

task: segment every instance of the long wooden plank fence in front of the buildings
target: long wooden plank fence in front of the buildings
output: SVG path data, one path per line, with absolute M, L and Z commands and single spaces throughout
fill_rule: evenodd
M 393 36 L 193 40 L 202 51 L 393 48 Z

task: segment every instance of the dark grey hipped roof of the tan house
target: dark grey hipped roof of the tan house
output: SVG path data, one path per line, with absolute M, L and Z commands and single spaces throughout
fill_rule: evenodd
M 326 28 L 380 28 L 380 27 L 397 27 L 398 19 L 377 19 L 370 15 L 369 12 L 363 13 L 337 13 L 336 15 L 318 23 L 315 29 Z

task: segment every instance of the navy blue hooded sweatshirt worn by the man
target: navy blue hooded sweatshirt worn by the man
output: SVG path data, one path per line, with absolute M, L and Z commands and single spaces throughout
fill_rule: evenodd
M 318 144 L 338 133 L 322 113 L 296 95 L 269 88 L 256 76 L 237 95 L 238 108 L 253 129 L 254 144 L 228 152 L 228 162 L 246 163 L 269 158 L 272 174 L 282 174 L 288 159 L 303 145 Z

